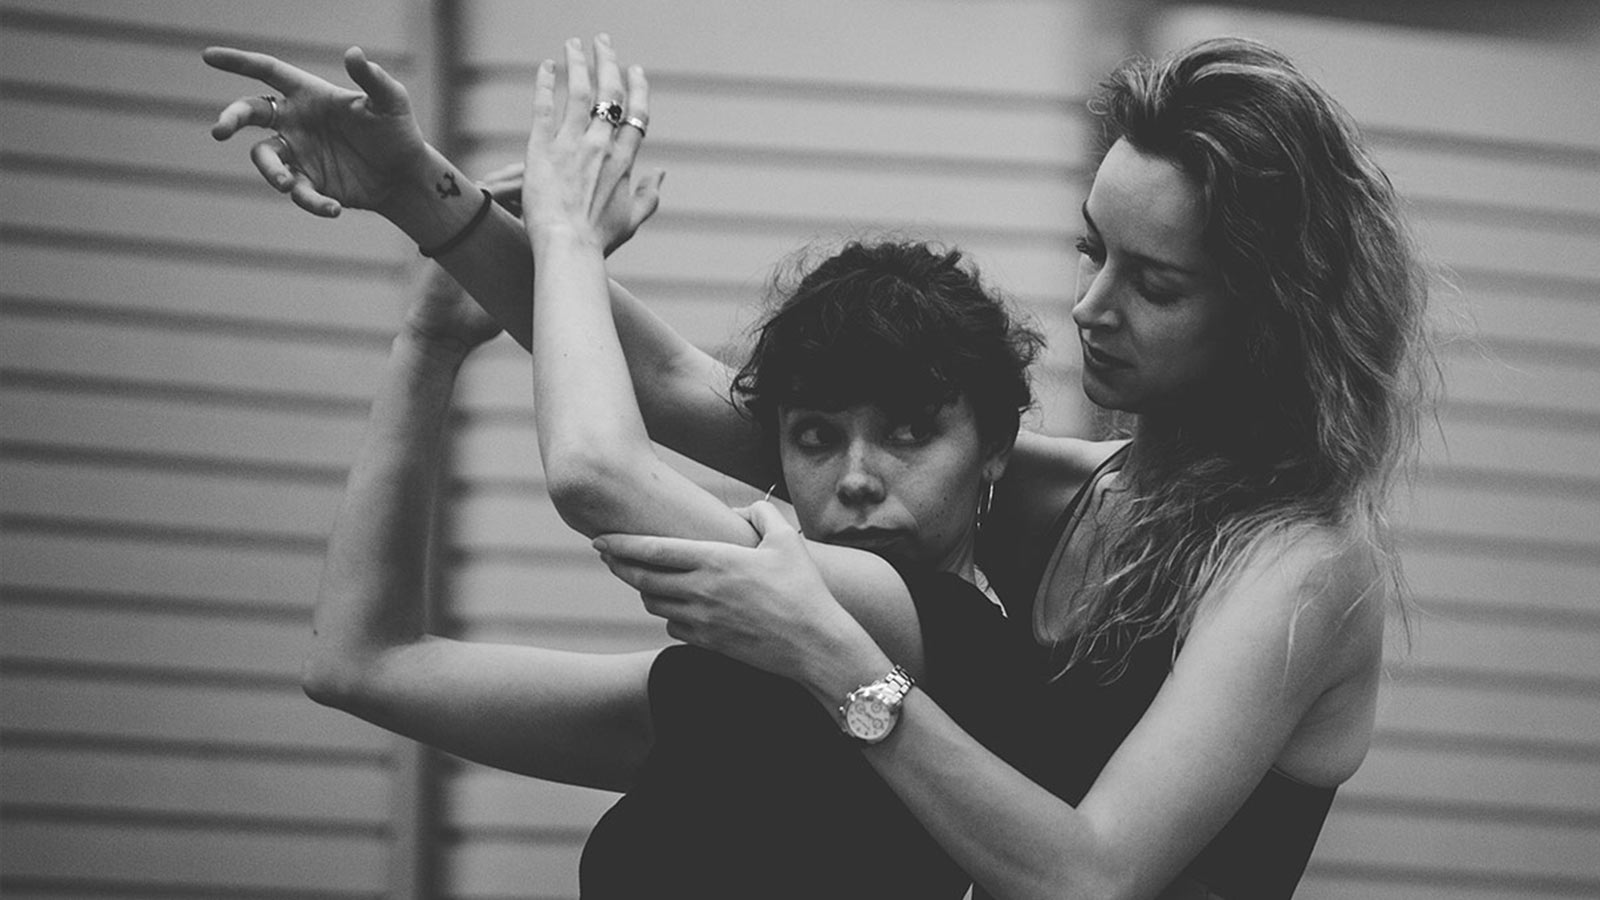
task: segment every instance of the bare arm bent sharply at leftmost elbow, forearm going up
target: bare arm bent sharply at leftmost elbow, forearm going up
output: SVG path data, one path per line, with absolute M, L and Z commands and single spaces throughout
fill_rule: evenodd
M 650 746 L 653 655 L 429 634 L 426 559 L 461 360 L 499 328 L 442 274 L 394 341 L 328 543 L 302 684 L 318 703 L 475 762 L 624 790 Z

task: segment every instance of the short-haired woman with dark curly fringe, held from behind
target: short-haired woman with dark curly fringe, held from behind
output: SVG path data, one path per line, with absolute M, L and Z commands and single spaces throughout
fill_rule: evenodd
M 630 72 L 621 106 L 603 38 L 595 58 L 590 88 L 582 50 L 568 45 L 565 112 L 554 66 L 541 66 L 528 143 L 549 492 L 590 536 L 754 546 L 746 516 L 664 464 L 638 415 L 603 248 L 653 208 L 630 191 L 643 128 L 621 125 L 624 112 L 645 120 L 646 85 Z M 821 541 L 821 570 L 802 575 L 901 660 L 835 721 L 798 685 L 696 647 L 563 653 L 427 634 L 419 560 L 440 424 L 462 357 L 494 333 L 469 301 L 435 291 L 397 340 L 330 541 L 307 693 L 467 759 L 626 791 L 584 847 L 590 900 L 962 897 L 971 879 L 856 748 L 880 737 L 893 692 L 914 679 L 990 751 L 1027 765 L 1040 746 L 1014 706 L 1030 684 L 1024 647 L 973 560 L 981 498 L 1030 402 L 1038 338 L 958 253 L 923 243 L 851 243 L 766 320 L 739 392 L 766 426 L 800 524 Z

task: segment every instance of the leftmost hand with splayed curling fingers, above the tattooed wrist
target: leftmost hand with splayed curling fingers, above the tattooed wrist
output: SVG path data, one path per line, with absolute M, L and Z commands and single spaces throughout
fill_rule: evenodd
M 250 159 L 302 210 L 326 218 L 344 207 L 382 211 L 410 168 L 426 159 L 427 141 L 405 85 L 358 46 L 344 53 L 344 70 L 360 88 L 355 91 L 264 53 L 211 46 L 202 58 L 277 91 L 275 101 L 250 96 L 227 104 L 211 136 L 226 141 L 246 127 L 270 130 L 250 149 Z M 440 186 L 450 189 L 472 186 Z

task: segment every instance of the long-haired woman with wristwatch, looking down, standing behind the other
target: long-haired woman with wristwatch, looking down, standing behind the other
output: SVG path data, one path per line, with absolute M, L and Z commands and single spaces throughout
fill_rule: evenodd
M 230 110 L 224 131 L 264 123 L 250 101 Z M 1085 391 L 1130 439 L 1021 436 L 978 551 L 1048 685 L 1021 695 L 1043 769 L 915 687 L 859 753 L 992 895 L 1286 897 L 1370 740 L 1397 594 L 1382 503 L 1424 396 L 1424 279 L 1354 127 L 1280 54 L 1219 40 L 1133 64 L 1096 112 L 1114 141 L 1083 208 L 1074 320 Z M 302 138 L 318 152 L 290 131 L 294 154 Z M 275 178 L 280 154 L 259 157 Z M 424 240 L 466 216 L 421 202 L 446 163 L 408 159 L 384 171 L 414 202 L 386 215 Z M 515 255 L 490 226 L 443 261 L 515 312 Z M 646 420 L 760 482 L 750 424 L 707 400 L 731 373 L 614 287 L 611 304 Z M 872 604 L 835 596 L 779 519 L 752 519 L 755 549 L 600 546 L 672 634 L 822 709 L 915 653 L 909 620 L 845 615 Z

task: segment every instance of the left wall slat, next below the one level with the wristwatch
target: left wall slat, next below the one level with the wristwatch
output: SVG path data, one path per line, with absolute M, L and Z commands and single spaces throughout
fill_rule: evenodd
M 8 746 L 5 802 L 53 812 L 381 826 L 389 772 L 373 764 Z

